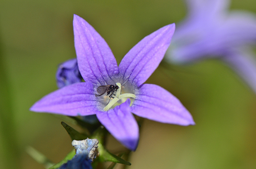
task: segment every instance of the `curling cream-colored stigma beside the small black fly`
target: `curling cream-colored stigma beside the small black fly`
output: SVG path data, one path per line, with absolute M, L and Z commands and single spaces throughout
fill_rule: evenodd
M 119 88 L 116 90 L 116 96 L 114 99 L 112 99 L 110 101 L 109 104 L 107 104 L 105 107 L 104 107 L 104 111 L 107 111 L 109 110 L 115 103 L 117 103 L 117 101 L 121 100 L 121 99 L 124 99 L 124 98 L 136 98 L 135 94 L 132 94 L 132 93 L 125 93 L 125 94 L 121 94 L 121 83 L 116 83 L 117 86 L 119 86 Z M 131 104 L 130 106 L 132 105 L 132 103 L 134 103 L 134 99 L 131 100 Z

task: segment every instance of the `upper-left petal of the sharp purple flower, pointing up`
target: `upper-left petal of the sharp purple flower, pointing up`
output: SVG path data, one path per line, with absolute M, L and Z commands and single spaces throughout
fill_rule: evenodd
M 73 29 L 78 67 L 85 81 L 96 84 L 102 75 L 108 78 L 119 73 L 109 45 L 90 24 L 74 14 Z

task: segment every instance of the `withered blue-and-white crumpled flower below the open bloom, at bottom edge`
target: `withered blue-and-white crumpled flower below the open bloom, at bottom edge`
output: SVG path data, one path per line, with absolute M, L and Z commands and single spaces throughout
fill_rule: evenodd
M 72 146 L 76 149 L 76 155 L 58 169 L 92 169 L 91 162 L 97 156 L 95 151 L 98 144 L 97 139 L 73 140 Z

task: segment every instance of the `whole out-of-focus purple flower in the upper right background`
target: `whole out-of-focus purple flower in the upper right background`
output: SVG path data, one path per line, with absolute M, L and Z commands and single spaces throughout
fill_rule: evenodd
M 222 59 L 256 92 L 256 62 L 249 48 L 256 43 L 255 15 L 228 12 L 228 0 L 186 2 L 188 16 L 177 26 L 166 59 L 181 64 Z

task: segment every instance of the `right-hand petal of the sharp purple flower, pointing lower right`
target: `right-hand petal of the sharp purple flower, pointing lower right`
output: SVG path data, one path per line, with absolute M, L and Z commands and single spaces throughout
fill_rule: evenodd
M 169 91 L 154 84 L 143 84 L 131 107 L 134 114 L 159 122 L 194 125 L 189 111 Z

